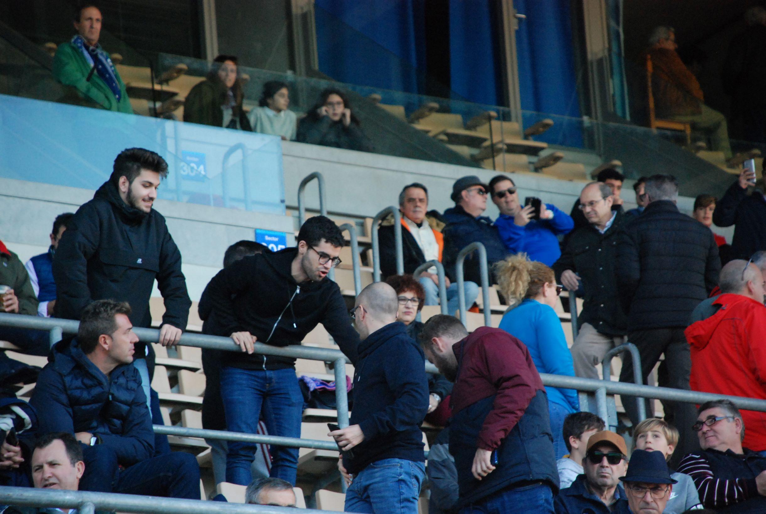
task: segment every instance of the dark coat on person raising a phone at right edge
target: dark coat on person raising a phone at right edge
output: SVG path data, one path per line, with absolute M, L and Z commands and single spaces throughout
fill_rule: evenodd
M 734 225 L 732 259 L 748 260 L 758 250 L 766 250 L 766 199 L 761 192 L 732 184 L 713 211 L 713 223 L 719 227 Z

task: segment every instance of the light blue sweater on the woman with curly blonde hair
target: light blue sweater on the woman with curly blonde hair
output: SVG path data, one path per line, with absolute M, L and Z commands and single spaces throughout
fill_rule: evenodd
M 575 365 L 567 347 L 561 321 L 551 306 L 537 300 L 524 300 L 500 321 L 500 329 L 515 336 L 529 349 L 539 373 L 575 376 Z M 546 387 L 548 401 L 568 408 L 571 412 L 580 410 L 577 391 Z

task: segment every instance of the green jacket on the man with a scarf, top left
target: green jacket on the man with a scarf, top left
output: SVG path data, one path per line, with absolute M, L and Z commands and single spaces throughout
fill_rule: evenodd
M 118 102 L 112 90 L 97 73 L 93 73 L 90 81 L 86 80 L 91 68 L 92 66 L 88 64 L 82 52 L 74 44 L 67 41 L 58 45 L 58 50 L 53 58 L 53 75 L 56 80 L 63 83 L 64 86 L 74 87 L 80 97 L 92 100 L 106 110 L 133 114 L 133 107 L 130 106 L 125 83 L 119 77 L 119 72 L 115 70 L 119 89 L 123 94 Z

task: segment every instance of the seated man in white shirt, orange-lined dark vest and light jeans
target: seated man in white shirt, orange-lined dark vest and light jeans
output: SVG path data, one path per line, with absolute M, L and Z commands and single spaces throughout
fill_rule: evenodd
M 436 211 L 427 213 L 428 190 L 426 186 L 414 182 L 405 185 L 399 194 L 399 210 L 401 211 L 401 253 L 404 257 L 404 273 L 414 273 L 418 266 L 427 260 L 441 262 L 444 252 L 444 237 L 441 230 L 444 222 L 439 219 Z M 394 238 L 394 215 L 381 221 L 378 229 L 380 243 L 381 273 L 384 277 L 396 274 L 396 242 Z M 421 273 L 418 277 L 425 290 L 425 305 L 439 305 L 439 277 L 435 266 Z M 444 286 L 447 287 L 447 312 L 454 314 L 458 309 L 457 283 L 450 282 L 444 276 Z M 463 283 L 466 295 L 466 308 L 470 309 L 479 286 L 475 282 Z

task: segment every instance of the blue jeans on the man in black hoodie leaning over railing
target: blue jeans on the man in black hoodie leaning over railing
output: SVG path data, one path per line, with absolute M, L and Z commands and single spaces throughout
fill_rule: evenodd
M 260 371 L 221 368 L 221 398 L 226 411 L 226 428 L 232 432 L 256 434 L 263 419 L 271 435 L 300 437 L 303 394 L 298 387 L 295 368 Z M 262 408 L 263 407 L 263 408 Z M 247 486 L 253 480 L 250 465 L 256 443 L 228 441 L 226 481 Z M 271 445 L 271 476 L 295 485 L 298 448 Z

